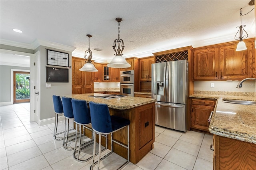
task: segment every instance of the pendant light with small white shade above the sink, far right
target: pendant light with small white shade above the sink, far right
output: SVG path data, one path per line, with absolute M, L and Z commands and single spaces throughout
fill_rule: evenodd
M 249 3 L 249 5 L 250 5 L 250 3 Z M 253 8 L 254 9 L 254 8 Z M 252 10 L 253 10 L 252 9 Z M 252 10 L 250 10 L 250 12 L 252 11 Z M 248 12 L 247 14 L 249 14 L 250 12 Z M 244 14 L 244 15 L 246 15 L 246 14 Z M 239 40 L 239 43 L 237 44 L 237 47 L 236 47 L 236 51 L 242 51 L 242 50 L 246 50 L 247 48 L 246 48 L 246 45 L 245 45 L 245 43 L 244 43 L 244 41 L 243 41 L 243 39 L 244 38 L 247 38 L 248 37 L 248 34 L 247 34 L 247 32 L 244 30 L 244 27 L 246 26 L 246 25 L 242 25 L 242 16 L 244 16 L 244 15 L 242 15 L 242 8 L 240 9 L 240 26 L 238 26 L 238 27 L 236 27 L 236 28 L 238 28 L 238 32 L 239 32 L 239 37 L 237 36 L 237 34 L 238 34 L 238 32 L 236 33 L 236 35 L 235 35 L 235 40 Z M 244 35 L 243 36 L 243 31 L 246 33 L 246 35 Z

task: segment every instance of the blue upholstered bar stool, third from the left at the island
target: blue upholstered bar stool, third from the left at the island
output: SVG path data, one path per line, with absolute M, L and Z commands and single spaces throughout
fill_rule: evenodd
M 74 121 L 76 123 L 76 128 L 79 126 L 79 145 L 78 145 L 78 150 L 76 147 L 77 144 L 77 138 L 78 138 L 78 129 L 76 129 L 76 142 L 75 142 L 75 149 L 73 153 L 73 158 L 77 160 L 78 162 L 86 162 L 87 160 L 91 159 L 92 156 L 86 160 L 80 159 L 80 150 L 90 146 L 93 144 L 93 140 L 90 140 L 88 142 L 85 142 L 84 144 L 81 144 L 82 142 L 82 128 L 87 128 L 89 130 L 92 130 L 84 125 L 89 125 L 91 124 L 91 118 L 90 118 L 90 113 L 89 109 L 87 107 L 86 101 L 83 100 L 76 100 L 72 99 L 72 107 L 73 107 L 73 113 L 74 113 Z M 78 125 L 78 126 L 77 126 Z M 92 138 L 93 138 L 93 133 L 92 133 Z M 82 148 L 81 148 L 82 146 Z

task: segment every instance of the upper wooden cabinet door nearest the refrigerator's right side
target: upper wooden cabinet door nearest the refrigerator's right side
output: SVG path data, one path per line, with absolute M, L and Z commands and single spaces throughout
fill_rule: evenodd
M 198 49 L 194 51 L 194 80 L 219 79 L 218 48 Z

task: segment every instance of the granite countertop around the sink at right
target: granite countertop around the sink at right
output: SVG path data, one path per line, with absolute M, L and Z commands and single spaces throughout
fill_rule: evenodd
M 256 101 L 256 97 L 203 94 L 194 94 L 190 97 L 217 99 L 209 126 L 212 134 L 256 144 L 256 106 L 222 101 L 222 99 Z

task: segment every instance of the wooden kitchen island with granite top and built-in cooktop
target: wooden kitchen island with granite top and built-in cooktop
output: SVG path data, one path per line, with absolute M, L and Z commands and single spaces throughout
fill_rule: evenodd
M 117 97 L 112 99 L 102 99 L 99 96 L 104 94 L 86 93 L 76 95 L 63 95 L 72 99 L 85 100 L 95 103 L 108 105 L 110 115 L 120 116 L 130 120 L 129 144 L 130 144 L 130 162 L 136 164 L 150 150 L 153 149 L 155 140 L 155 99 L 140 97 Z M 84 130 L 84 134 L 88 137 L 91 132 Z M 127 127 L 113 134 L 114 140 L 118 140 L 123 144 L 127 144 Z M 104 138 L 102 138 L 104 146 Z M 110 146 L 110 135 L 108 135 L 108 149 Z M 113 143 L 113 150 L 120 156 L 127 158 L 127 149 Z

